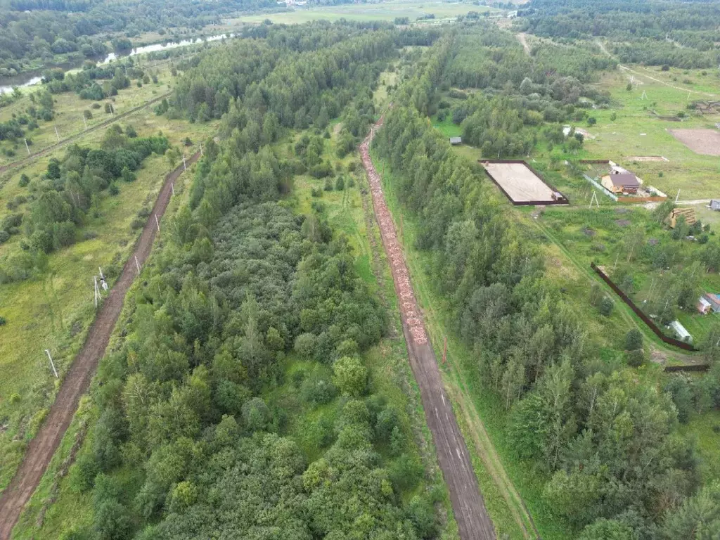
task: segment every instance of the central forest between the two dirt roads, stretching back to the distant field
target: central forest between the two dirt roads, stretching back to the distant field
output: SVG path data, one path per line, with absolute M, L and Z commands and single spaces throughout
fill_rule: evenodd
M 169 114 L 202 121 L 213 111 L 225 136 L 204 144 L 189 202 L 132 297 L 122 346 L 101 366 L 99 418 L 71 475 L 91 492 L 93 522 L 73 538 L 415 540 L 438 531 L 438 494 L 413 493 L 423 477 L 413 436 L 362 361 L 385 331 L 384 309 L 322 212 L 279 202 L 297 169 L 317 164 L 323 138 L 302 138 L 298 161 L 273 146 L 287 127 L 327 125 L 361 104 L 397 36 L 304 30 L 317 39 L 297 53 L 264 42 L 204 53 L 171 100 Z M 324 30 L 340 32 L 325 41 Z M 238 55 L 245 48 L 257 54 Z M 288 114 L 293 107 L 302 114 Z M 305 366 L 292 377 L 289 359 Z M 309 456 L 290 416 L 313 410 Z

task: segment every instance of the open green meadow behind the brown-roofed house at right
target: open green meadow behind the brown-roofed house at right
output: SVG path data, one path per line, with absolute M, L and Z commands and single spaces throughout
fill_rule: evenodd
M 610 93 L 611 106 L 590 111 L 598 120 L 596 125 L 578 124 L 596 138 L 586 139 L 584 150 L 577 157 L 615 161 L 637 174 L 646 185 L 656 186 L 673 197 L 679 189 L 681 200 L 720 197 L 718 159 L 693 152 L 670 133 L 670 130 L 680 128 L 714 128 L 715 123 L 720 122 L 720 112 L 702 115 L 687 109 L 688 91 L 697 92 L 690 94 L 690 102 L 720 99 L 720 79 L 716 73 L 702 75 L 700 70 L 690 70 L 683 74 L 631 67 L 638 73 L 647 73 L 647 77 L 634 76 L 631 91 L 626 90 L 626 85 L 633 74 L 622 70 L 606 73 L 598 83 L 600 89 Z M 683 84 L 683 80 L 693 81 L 693 84 Z M 699 94 L 701 91 L 714 92 L 716 97 Z M 685 118 L 681 122 L 662 120 L 652 111 L 660 116 L 681 113 Z M 613 114 L 616 114 L 614 121 L 611 120 Z M 669 161 L 635 161 L 636 156 L 665 156 Z

